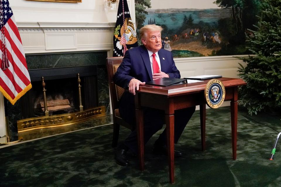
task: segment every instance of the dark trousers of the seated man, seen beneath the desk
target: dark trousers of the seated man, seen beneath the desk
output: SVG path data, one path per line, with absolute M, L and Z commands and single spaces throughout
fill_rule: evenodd
M 122 99 L 121 99 L 122 100 Z M 187 122 L 195 111 L 195 106 L 190 108 L 184 108 L 175 110 L 174 113 L 174 142 L 177 143 L 181 136 Z M 128 122 L 136 126 L 136 114 L 135 106 L 133 103 L 120 101 L 119 112 L 121 117 Z M 165 124 L 165 111 L 157 110 L 153 108 L 143 108 L 143 134 L 144 144 L 155 134 L 157 131 L 162 129 Z M 155 141 L 155 146 L 164 146 L 167 144 L 166 128 L 160 134 L 159 138 Z M 124 145 L 129 148 L 134 154 L 138 154 L 138 140 L 136 129 L 124 141 Z

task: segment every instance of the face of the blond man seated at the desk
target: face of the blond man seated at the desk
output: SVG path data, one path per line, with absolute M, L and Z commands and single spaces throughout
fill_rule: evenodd
M 147 31 L 141 41 L 146 49 L 152 51 L 153 53 L 156 53 L 162 48 L 160 31 Z

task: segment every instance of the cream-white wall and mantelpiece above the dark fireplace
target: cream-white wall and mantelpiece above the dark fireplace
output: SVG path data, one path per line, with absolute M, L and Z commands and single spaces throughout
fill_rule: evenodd
M 14 0 L 11 7 L 25 54 L 67 51 L 107 51 L 112 56 L 116 10 L 104 0 L 53 3 Z M 128 0 L 135 22 L 134 0 Z

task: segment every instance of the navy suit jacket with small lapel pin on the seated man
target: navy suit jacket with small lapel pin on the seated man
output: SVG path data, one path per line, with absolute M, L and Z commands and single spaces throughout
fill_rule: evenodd
M 175 65 L 172 53 L 165 49 L 160 49 L 158 55 L 161 71 L 168 73 L 170 78 L 180 78 L 181 75 Z M 113 81 L 118 86 L 127 89 L 129 82 L 133 78 L 141 82 L 152 81 L 150 58 L 145 46 L 138 46 L 126 51 L 121 65 L 114 74 Z

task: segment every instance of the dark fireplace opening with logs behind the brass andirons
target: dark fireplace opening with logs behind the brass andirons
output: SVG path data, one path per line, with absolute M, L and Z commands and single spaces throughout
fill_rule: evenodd
M 78 73 L 83 109 L 98 106 L 96 65 L 29 70 L 32 89 L 21 99 L 22 119 L 44 116 L 44 77 L 49 115 L 79 111 Z

